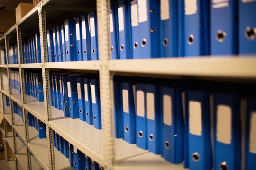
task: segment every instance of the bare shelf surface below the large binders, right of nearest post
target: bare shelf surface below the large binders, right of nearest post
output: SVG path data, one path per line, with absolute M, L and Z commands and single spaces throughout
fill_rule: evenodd
M 144 153 L 117 161 L 114 170 L 185 170 L 183 164 L 171 164 L 154 153 Z M 188 170 L 188 169 L 186 169 Z

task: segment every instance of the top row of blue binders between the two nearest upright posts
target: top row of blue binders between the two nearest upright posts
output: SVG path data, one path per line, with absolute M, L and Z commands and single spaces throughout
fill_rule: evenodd
M 49 62 L 98 60 L 96 11 L 47 30 L 47 45 Z

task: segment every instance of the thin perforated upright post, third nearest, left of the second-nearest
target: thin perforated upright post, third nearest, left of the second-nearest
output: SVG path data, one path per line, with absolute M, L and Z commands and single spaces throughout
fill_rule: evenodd
M 27 110 L 24 109 L 24 104 L 26 103 L 26 93 L 25 93 L 25 76 L 24 76 L 24 68 L 21 68 L 21 64 L 23 63 L 23 52 L 22 52 L 22 36 L 21 36 L 21 27 L 20 25 L 16 25 L 16 33 L 17 33 L 17 46 L 18 46 L 18 69 L 19 69 L 19 80 L 20 80 L 20 91 L 21 91 L 21 102 L 22 102 L 22 114 L 24 120 L 24 129 L 25 129 L 25 140 L 26 144 L 29 142 L 29 132 L 28 132 L 28 118 L 27 118 Z M 14 137 L 16 141 L 16 137 Z M 17 147 L 17 145 L 16 145 Z M 26 154 L 27 154 L 27 167 L 28 170 L 32 170 L 31 165 L 31 155 L 30 151 L 26 145 Z

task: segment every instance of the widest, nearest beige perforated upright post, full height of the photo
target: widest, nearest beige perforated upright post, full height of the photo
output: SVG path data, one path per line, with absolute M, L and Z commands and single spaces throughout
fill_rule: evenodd
M 97 28 L 100 60 L 100 95 L 101 95 L 101 122 L 103 130 L 105 170 L 113 167 L 114 158 L 114 126 L 113 110 L 111 109 L 111 83 L 109 71 L 110 52 L 110 29 L 109 25 L 110 0 L 97 0 Z

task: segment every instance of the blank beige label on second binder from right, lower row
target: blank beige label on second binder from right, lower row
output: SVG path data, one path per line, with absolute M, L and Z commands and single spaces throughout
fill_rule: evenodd
M 229 106 L 217 106 L 217 141 L 231 144 L 232 110 Z

